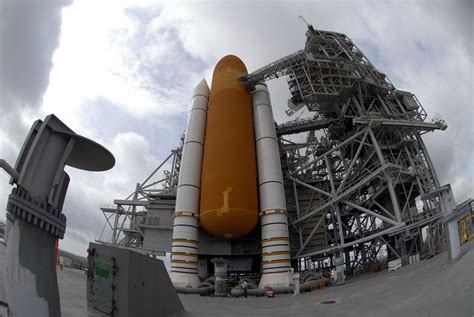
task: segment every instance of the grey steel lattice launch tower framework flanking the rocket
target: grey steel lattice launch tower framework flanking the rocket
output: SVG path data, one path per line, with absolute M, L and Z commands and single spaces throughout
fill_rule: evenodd
M 440 252 L 446 243 L 441 220 L 449 220 L 454 201 L 446 201 L 452 193 L 441 188 L 422 135 L 447 125 L 439 118 L 427 122 L 415 95 L 397 90 L 346 35 L 308 25 L 306 36 L 303 50 L 241 78 L 253 91 L 286 77 L 286 113 L 306 107 L 311 114 L 276 129 L 293 269 L 335 267 L 342 282 L 344 273 L 370 269 L 382 248 L 402 262 Z M 150 183 L 162 187 L 151 190 L 150 176 L 126 200 L 116 200 L 116 208 L 102 208 L 113 244 L 146 250 L 147 228 L 171 230 L 172 222 L 153 219 L 167 219 L 174 209 L 181 149 L 167 158 L 170 172 Z

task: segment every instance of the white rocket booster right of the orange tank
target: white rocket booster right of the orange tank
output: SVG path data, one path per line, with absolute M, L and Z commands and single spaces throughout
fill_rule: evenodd
M 290 284 L 290 243 L 280 151 L 267 86 L 252 92 L 262 224 L 262 278 L 259 287 Z

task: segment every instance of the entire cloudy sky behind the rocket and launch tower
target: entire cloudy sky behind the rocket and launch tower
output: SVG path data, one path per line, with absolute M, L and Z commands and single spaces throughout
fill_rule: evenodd
M 425 135 L 442 184 L 474 196 L 472 1 L 0 0 L 0 157 L 12 165 L 35 119 L 54 113 L 116 157 L 114 169 L 67 168 L 61 247 L 83 255 L 100 206 L 127 196 L 175 148 L 193 87 L 235 54 L 255 70 L 301 49 L 302 14 L 347 34 L 394 85 L 417 95 L 445 132 Z M 270 83 L 277 121 L 289 93 Z M 11 187 L 0 172 L 0 218 Z

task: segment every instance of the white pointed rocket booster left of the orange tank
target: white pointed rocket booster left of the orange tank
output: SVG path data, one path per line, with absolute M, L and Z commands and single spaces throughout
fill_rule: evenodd
M 176 193 L 171 242 L 171 281 L 175 286 L 198 287 L 198 217 L 202 154 L 206 132 L 209 87 L 202 80 L 194 89 Z

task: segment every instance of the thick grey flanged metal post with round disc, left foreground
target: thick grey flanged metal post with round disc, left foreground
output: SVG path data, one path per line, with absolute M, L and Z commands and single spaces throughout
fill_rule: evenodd
M 66 231 L 62 209 L 70 178 L 64 168 L 98 172 L 114 164 L 106 148 L 53 114 L 33 123 L 14 167 L 0 159 L 14 186 L 8 196 L 3 263 L 8 316 L 61 316 L 56 247 Z

